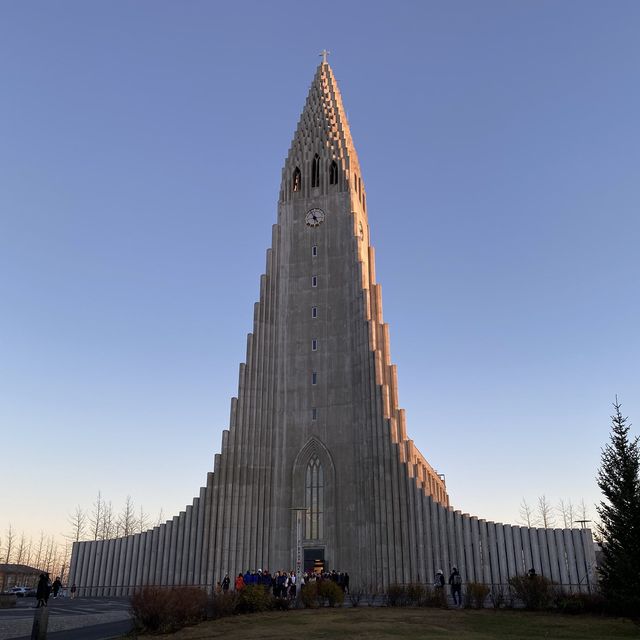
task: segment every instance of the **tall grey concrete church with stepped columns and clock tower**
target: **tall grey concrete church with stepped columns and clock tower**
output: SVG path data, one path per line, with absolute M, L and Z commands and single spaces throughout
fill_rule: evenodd
M 456 511 L 407 434 L 370 244 L 366 188 L 326 54 L 282 170 L 277 221 L 230 423 L 185 510 L 144 533 L 76 542 L 69 584 L 121 596 L 246 570 L 347 571 L 351 584 L 506 584 L 534 568 L 588 589 L 587 529 Z

